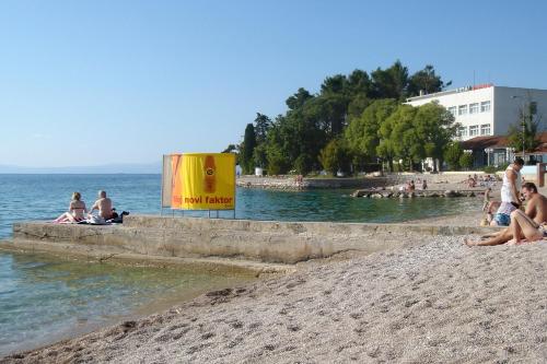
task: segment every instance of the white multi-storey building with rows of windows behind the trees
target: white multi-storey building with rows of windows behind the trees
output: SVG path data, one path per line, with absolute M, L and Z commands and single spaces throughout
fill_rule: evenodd
M 546 130 L 547 90 L 481 84 L 407 99 L 407 104 L 412 106 L 431 102 L 438 102 L 444 106 L 454 115 L 456 122 L 462 125 L 461 140 L 505 136 L 510 125 L 520 125 L 521 110 L 528 115 L 532 109 L 536 119 L 543 116 L 538 131 Z

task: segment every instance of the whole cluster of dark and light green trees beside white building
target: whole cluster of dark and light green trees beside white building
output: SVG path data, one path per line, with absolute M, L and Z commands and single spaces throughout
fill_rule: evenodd
M 307 175 L 377 169 L 379 163 L 414 171 L 432 157 L 441 165 L 458 126 L 439 104 L 404 104 L 420 92 L 442 91 L 445 83 L 432 66 L 409 74 L 400 61 L 370 72 L 327 77 L 317 94 L 300 87 L 286 101 L 287 111 L 274 120 L 257 113 L 236 152 L 244 174 L 263 167 L 270 175 Z M 403 163 L 398 163 L 403 161 Z

